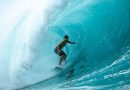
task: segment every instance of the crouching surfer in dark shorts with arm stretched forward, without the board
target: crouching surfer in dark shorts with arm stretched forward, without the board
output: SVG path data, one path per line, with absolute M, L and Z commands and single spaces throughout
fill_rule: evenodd
M 55 53 L 60 56 L 59 65 L 61 65 L 61 63 L 62 63 L 63 61 L 65 61 L 65 59 L 66 59 L 66 57 L 67 57 L 67 55 L 66 55 L 65 52 L 62 50 L 62 48 L 65 47 L 67 43 L 70 43 L 70 44 L 75 44 L 75 43 L 76 43 L 76 42 L 71 42 L 71 41 L 69 41 L 68 39 L 69 39 L 69 36 L 68 36 L 68 35 L 65 35 L 65 36 L 64 36 L 64 40 L 63 40 L 60 44 L 58 44 L 58 45 L 56 46 L 55 50 L 54 50 Z

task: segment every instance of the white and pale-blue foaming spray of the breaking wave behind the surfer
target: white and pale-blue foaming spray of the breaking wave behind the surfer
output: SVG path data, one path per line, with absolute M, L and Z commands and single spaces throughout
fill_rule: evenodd
M 0 1 L 0 88 L 21 88 L 57 74 L 56 34 L 46 33 L 46 28 L 55 20 L 55 11 L 64 10 L 67 3 Z

